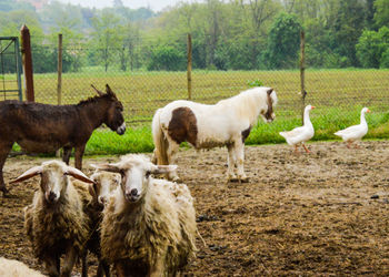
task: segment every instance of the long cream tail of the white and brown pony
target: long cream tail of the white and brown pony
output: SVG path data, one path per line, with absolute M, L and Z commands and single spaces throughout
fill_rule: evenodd
M 169 142 L 164 136 L 162 131 L 162 126 L 160 123 L 160 114 L 162 109 L 158 109 L 154 116 L 152 117 L 151 131 L 152 131 L 152 140 L 154 142 L 154 152 L 152 155 L 152 162 L 154 164 L 169 164 L 168 160 L 168 147 Z

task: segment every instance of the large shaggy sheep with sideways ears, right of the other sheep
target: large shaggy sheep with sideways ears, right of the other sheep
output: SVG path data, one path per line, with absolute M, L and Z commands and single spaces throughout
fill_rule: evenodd
M 121 174 L 103 211 L 101 253 L 118 276 L 173 276 L 196 253 L 196 213 L 184 184 L 156 179 L 177 165 L 130 154 L 99 170 Z

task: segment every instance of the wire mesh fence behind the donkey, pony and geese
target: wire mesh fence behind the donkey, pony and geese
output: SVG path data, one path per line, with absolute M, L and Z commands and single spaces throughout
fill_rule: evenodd
M 32 42 L 33 42 L 32 38 Z M 196 38 L 193 38 L 193 41 Z M 57 104 L 58 45 L 32 43 L 36 101 Z M 201 55 L 201 49 L 193 54 Z M 200 58 L 199 58 L 200 59 Z M 106 83 L 124 106 L 128 131 L 124 136 L 101 127 L 87 145 L 87 154 L 152 151 L 151 120 L 158 107 L 188 99 L 187 44 L 182 39 L 173 47 L 138 41 L 131 48 L 88 44 L 63 47 L 61 104 L 74 104 L 93 96 L 90 84 L 103 90 Z M 191 100 L 213 104 L 250 88 L 251 83 L 271 86 L 278 94 L 277 119 L 271 124 L 259 122 L 247 143 L 282 142 L 278 134 L 301 124 L 300 72 L 223 71 L 198 69 L 193 62 Z M 306 70 L 307 104 L 311 113 L 316 140 L 335 138 L 333 132 L 359 122 L 359 113 L 368 106 L 371 137 L 389 137 L 388 70 Z M 387 131 L 388 130 L 388 131 Z

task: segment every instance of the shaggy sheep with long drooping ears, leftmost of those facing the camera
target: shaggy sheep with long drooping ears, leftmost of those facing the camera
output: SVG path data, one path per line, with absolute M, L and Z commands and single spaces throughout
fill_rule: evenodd
M 11 183 L 36 175 L 41 176 L 41 182 L 32 204 L 24 208 L 27 235 L 34 255 L 46 264 L 49 276 L 70 276 L 74 263 L 84 250 L 90 230 L 81 197 L 68 175 L 86 183 L 93 181 L 63 162 L 48 161 L 28 170 Z M 60 270 L 62 254 L 64 265 Z

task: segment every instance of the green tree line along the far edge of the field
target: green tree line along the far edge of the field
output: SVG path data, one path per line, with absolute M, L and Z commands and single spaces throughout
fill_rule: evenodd
M 57 69 L 63 34 L 63 71 L 186 70 L 187 33 L 193 69 L 286 70 L 299 62 L 306 32 L 309 68 L 389 68 L 389 0 L 206 0 L 161 12 L 89 9 L 51 1 L 40 11 L 0 0 L 0 35 L 32 34 L 36 72 Z

